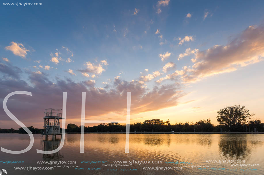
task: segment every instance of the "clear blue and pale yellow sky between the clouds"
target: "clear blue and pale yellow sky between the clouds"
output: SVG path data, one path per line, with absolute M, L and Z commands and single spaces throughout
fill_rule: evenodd
M 16 1 L 8 1 L 8 3 L 11 2 L 16 3 Z M 88 81 L 92 87 L 88 86 L 87 91 L 92 92 L 91 88 L 95 88 L 99 92 L 98 88 L 103 88 L 104 93 L 108 96 L 111 95 L 111 88 L 115 90 L 119 88 L 117 84 L 121 82 L 115 82 L 117 79 L 127 82 L 137 80 L 141 84 L 138 87 L 145 88 L 144 92 L 140 90 L 141 93 L 137 96 L 139 98 L 148 92 L 153 92 L 155 86 L 161 87 L 162 85 L 177 86 L 178 89 L 174 89 L 174 91 L 181 91 L 182 94 L 177 93 L 178 98 L 172 100 L 175 105 L 168 105 L 167 102 L 164 102 L 164 105 L 160 104 L 162 107 L 158 110 L 155 109 L 155 105 L 139 110 L 134 114 L 135 121 L 144 121 L 152 116 L 167 119 L 167 116 L 163 116 L 165 112 L 168 113 L 172 121 L 195 122 L 210 117 L 216 124 L 216 111 L 227 105 L 235 105 L 235 103 L 247 104 L 246 107 L 249 109 L 252 107 L 250 110 L 256 113 L 256 117 L 263 117 L 263 111 L 259 111 L 260 109 L 257 107 L 253 108 L 256 105 L 250 103 L 252 100 L 259 99 L 259 95 L 263 94 L 261 89 L 253 88 L 259 92 L 256 97 L 248 91 L 244 92 L 252 89 L 254 86 L 252 84 L 263 85 L 260 82 L 260 78 L 263 78 L 262 49 L 250 52 L 246 58 L 241 59 L 240 57 L 243 55 L 236 54 L 240 49 L 253 49 L 253 46 L 252 48 L 242 46 L 243 38 L 250 42 L 253 38 L 252 43 L 257 43 L 260 48 L 263 47 L 264 42 L 261 39 L 257 40 L 250 33 L 251 30 L 255 30 L 252 33 L 258 32 L 260 38 L 263 38 L 263 33 L 261 33 L 264 19 L 263 1 L 35 2 L 43 4 L 18 7 L 1 4 L 0 12 L 2 64 L 10 66 L 10 69 L 13 70 L 15 67 L 19 68 L 21 72 L 17 72 L 20 74 L 18 79 L 23 80 L 33 89 L 36 89 L 36 82 L 32 80 L 33 75 L 45 77 L 44 82 L 47 83 L 48 80 L 57 86 L 59 86 L 58 79 L 65 82 L 70 79 L 76 84 L 80 82 L 85 84 L 84 82 Z M 243 31 L 245 32 L 243 33 Z M 236 40 L 240 40 L 240 43 L 232 45 L 232 42 Z M 241 44 L 241 48 L 235 48 L 239 44 Z M 219 60 L 227 53 L 224 53 L 224 48 L 220 51 L 214 50 L 213 47 L 216 45 L 219 45 L 219 48 L 220 45 L 230 45 L 231 49 L 228 53 L 235 50 L 234 53 L 231 53 L 229 60 L 234 59 L 226 61 L 223 67 L 219 66 L 222 63 Z M 22 49 L 22 52 L 17 53 L 16 47 Z M 188 48 L 190 48 L 189 51 L 187 51 Z M 206 52 L 209 48 L 212 48 L 214 53 L 210 56 L 200 55 L 203 52 L 209 55 L 209 52 Z M 191 51 L 193 53 L 189 53 Z M 179 58 L 179 55 L 184 55 L 184 53 L 186 56 Z M 214 56 L 218 59 L 215 62 L 211 61 L 214 60 Z M 253 57 L 258 57 L 258 59 Z M 4 58 L 7 58 L 8 61 L 5 61 Z M 52 58 L 56 59 L 52 61 Z M 104 62 L 102 62 L 103 60 Z M 199 60 L 202 60 L 201 62 L 210 61 L 210 64 L 214 65 L 215 63 L 217 66 L 210 70 L 208 66 L 207 69 L 204 69 L 206 66 L 200 67 L 193 70 L 196 71 L 195 73 L 192 71 L 189 71 L 191 73 L 177 72 L 177 78 L 174 75 L 172 78 L 171 74 L 176 70 L 183 71 L 184 66 L 190 70 Z M 225 59 L 223 58 L 223 60 Z M 250 64 L 247 64 L 248 62 Z M 168 67 L 169 69 L 164 72 L 163 67 L 168 63 L 171 67 Z M 245 63 L 246 65 L 244 65 Z M 235 66 L 230 67 L 230 65 Z M 46 69 L 45 66 L 47 66 Z M 183 80 L 185 74 L 188 74 L 188 78 L 194 79 Z M 1 75 L 3 75 L 1 76 L 2 81 L 15 79 L 4 71 L 1 72 Z M 166 75 L 171 76 L 168 79 L 160 79 Z M 244 86 L 241 82 L 248 81 L 252 81 L 250 87 L 243 90 Z M 114 85 L 107 88 L 107 84 L 102 82 L 108 83 L 109 86 Z M 226 87 L 220 82 L 229 85 Z M 219 88 L 221 86 L 223 86 L 222 89 Z M 210 87 L 210 89 L 205 92 L 206 87 Z M 10 89 L 12 88 L 10 87 Z M 210 101 L 224 89 L 228 90 L 225 94 L 238 93 L 238 97 L 236 97 L 238 100 L 233 101 L 227 98 L 221 99 L 220 102 L 217 99 Z M 129 88 L 123 90 L 122 93 Z M 9 91 L 2 94 L 1 99 L 8 94 L 7 92 Z M 81 91 L 79 93 L 81 94 Z M 242 93 L 248 99 L 239 99 Z M 171 99 L 174 95 L 170 94 L 168 97 Z M 230 97 L 230 94 L 227 96 Z M 263 101 L 263 96 L 259 100 Z M 142 104 L 136 109 L 150 103 L 158 103 L 157 101 L 148 101 L 143 104 L 143 99 L 138 101 Z M 197 101 L 197 104 L 180 107 L 180 104 L 186 101 L 194 101 L 194 103 Z M 100 103 L 100 101 L 97 102 Z M 184 118 L 174 116 L 176 111 L 179 111 L 177 107 L 183 111 L 178 115 L 185 116 Z M 42 106 L 42 108 L 48 107 Z M 197 110 L 196 113 L 190 114 L 190 108 Z M 199 111 L 198 108 L 203 109 Z M 92 116 L 119 116 L 124 109 L 104 110 L 107 112 L 94 113 Z M 15 108 L 14 111 L 16 111 Z M 146 112 L 149 113 L 146 114 Z M 1 112 L 1 116 L 3 117 L 5 114 Z M 80 117 L 72 114 L 70 118 L 78 123 L 77 119 Z M 3 123 L 6 123 L 7 120 L 9 119 L 6 116 L 2 119 Z M 29 120 L 25 119 L 25 123 Z M 12 121 L 8 122 L 11 125 Z M 41 122 L 40 120 L 39 123 Z M 40 125 L 39 123 L 35 124 Z

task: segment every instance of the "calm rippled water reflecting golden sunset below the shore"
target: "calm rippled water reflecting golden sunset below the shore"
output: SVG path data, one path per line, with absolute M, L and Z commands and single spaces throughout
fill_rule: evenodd
M 44 139 L 45 137 L 43 137 Z M 39 150 L 54 150 L 60 140 L 43 140 L 40 134 L 34 134 L 34 145 L 24 154 L 0 152 L 0 161 L 24 161 L 24 163 L 4 164 L 0 168 L 8 174 L 264 174 L 263 134 L 130 134 L 130 153 L 125 154 L 125 134 L 85 134 L 84 153 L 79 153 L 80 134 L 66 134 L 65 143 L 55 154 L 39 154 Z M 29 145 L 27 134 L 0 134 L 0 146 L 9 150 L 22 150 Z M 102 168 L 101 170 L 75 170 L 75 168 L 54 168 L 54 170 L 14 170 L 14 167 L 54 167 L 49 164 L 37 164 L 37 161 L 76 161 L 81 168 Z M 162 160 L 162 164 L 132 164 L 129 166 L 106 167 L 102 163 L 89 164 L 81 161 L 114 160 Z M 242 164 L 259 166 L 238 167 L 231 163 L 206 163 L 206 160 L 245 160 Z M 179 164 L 165 162 L 195 162 L 185 166 L 209 166 L 225 170 L 143 170 L 143 167 L 182 167 Z M 241 163 L 234 163 L 241 164 Z M 136 168 L 136 171 L 107 171 L 107 168 Z M 257 171 L 227 171 L 227 168 L 256 168 Z

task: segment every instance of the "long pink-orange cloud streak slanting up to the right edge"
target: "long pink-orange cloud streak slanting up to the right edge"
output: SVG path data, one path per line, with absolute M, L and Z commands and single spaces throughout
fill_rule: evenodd
M 260 62 L 264 58 L 263 33 L 263 25 L 249 26 L 225 46 L 215 45 L 204 51 L 196 50 L 195 63 L 185 66 L 180 70 L 181 74 L 177 75 L 181 75 L 183 83 L 191 83 Z M 187 53 L 190 53 L 189 48 Z

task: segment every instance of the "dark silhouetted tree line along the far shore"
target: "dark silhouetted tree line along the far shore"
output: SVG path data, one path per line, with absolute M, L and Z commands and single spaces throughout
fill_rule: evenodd
M 130 124 L 130 132 L 220 132 L 220 131 L 264 131 L 264 123 L 261 120 L 250 120 L 254 114 L 245 106 L 235 105 L 227 106 L 217 111 L 218 125 L 213 125 L 210 119 L 200 120 L 196 123 L 185 122 L 171 124 L 170 120 L 163 121 L 160 119 L 149 119 L 143 123 L 137 122 Z M 33 126 L 28 127 L 32 133 L 41 133 L 43 129 L 37 129 Z M 67 133 L 80 133 L 81 126 L 69 123 L 66 129 Z M 97 126 L 84 127 L 84 132 L 126 132 L 126 125 L 119 123 L 101 123 Z M 0 129 L 0 133 L 25 133 L 23 128 L 15 129 Z

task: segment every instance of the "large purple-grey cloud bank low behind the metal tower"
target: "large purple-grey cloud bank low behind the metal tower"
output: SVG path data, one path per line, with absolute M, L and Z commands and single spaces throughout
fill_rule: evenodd
M 1 70 L 1 69 L 0 69 Z M 24 78 L 23 78 L 24 79 Z M 62 108 L 62 93 L 67 92 L 67 119 L 75 120 L 75 124 L 80 124 L 78 115 L 81 114 L 81 92 L 86 92 L 86 120 L 90 116 L 102 116 L 115 113 L 120 117 L 126 115 L 127 92 L 131 92 L 131 114 L 138 114 L 148 111 L 178 105 L 178 99 L 184 94 L 175 85 L 154 86 L 152 89 L 142 87 L 138 81 L 126 81 L 120 77 L 108 84 L 111 88 L 95 88 L 94 80 L 74 82 L 71 79 L 61 80 L 56 78 L 50 80 L 45 74 L 28 72 L 24 80 L 0 79 L 0 98 L 14 91 L 28 91 L 32 96 L 14 95 L 10 97 L 12 105 L 8 109 L 15 116 L 21 115 L 21 120 L 41 123 L 41 115 L 44 108 Z M 41 100 L 40 100 L 41 99 Z M 11 103 L 11 102 L 10 102 Z M 43 114 L 43 113 L 42 113 Z M 6 116 L 3 109 L 0 109 L 1 120 L 11 120 Z M 77 119 L 78 118 L 78 119 Z M 67 124 L 66 124 L 67 125 Z M 41 127 L 42 125 L 35 127 Z

